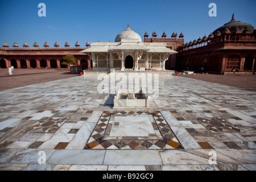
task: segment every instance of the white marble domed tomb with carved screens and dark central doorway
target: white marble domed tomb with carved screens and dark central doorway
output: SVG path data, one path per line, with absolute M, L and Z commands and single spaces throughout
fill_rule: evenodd
M 93 71 L 164 71 L 168 57 L 177 53 L 167 48 L 167 43 L 143 43 L 129 24 L 117 35 L 115 42 L 94 42 L 81 52 L 89 55 Z

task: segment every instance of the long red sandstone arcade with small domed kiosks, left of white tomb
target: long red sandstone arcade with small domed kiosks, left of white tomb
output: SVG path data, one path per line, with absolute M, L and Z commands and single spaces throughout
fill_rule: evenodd
M 0 48 L 0 67 L 8 68 L 13 66 L 14 68 L 65 68 L 67 65 L 63 65 L 62 59 L 65 55 L 74 55 L 77 59 L 77 64 L 81 65 L 83 69 L 90 69 L 90 60 L 87 55 L 80 51 L 90 47 L 90 44 L 86 43 L 86 48 L 80 47 L 80 44 L 76 42 L 75 48 L 69 48 L 69 44 L 65 43 L 65 48 L 59 48 L 59 44 L 56 42 L 54 48 L 49 48 L 47 43 L 44 43 L 44 48 L 39 48 L 35 42 L 33 48 L 29 48 L 27 43 L 23 44 L 23 48 L 14 43 L 13 48 L 9 48 L 7 43 L 3 44 L 3 48 Z

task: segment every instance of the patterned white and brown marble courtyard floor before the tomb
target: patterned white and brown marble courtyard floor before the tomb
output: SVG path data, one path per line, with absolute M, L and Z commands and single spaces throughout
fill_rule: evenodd
M 100 82 L 76 76 L 1 91 L 0 170 L 256 169 L 255 91 L 159 76 L 148 109 L 112 109 Z

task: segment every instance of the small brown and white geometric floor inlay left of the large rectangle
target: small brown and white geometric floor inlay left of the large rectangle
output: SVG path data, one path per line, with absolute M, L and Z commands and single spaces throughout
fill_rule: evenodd
M 33 133 L 55 133 L 61 125 L 63 125 L 69 118 L 59 117 L 43 117 L 28 126 L 22 132 L 33 132 Z

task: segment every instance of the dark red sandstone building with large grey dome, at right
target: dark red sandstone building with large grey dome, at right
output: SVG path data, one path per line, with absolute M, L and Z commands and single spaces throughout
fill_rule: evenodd
M 256 30 L 251 24 L 234 19 L 213 31 L 208 37 L 186 43 L 177 53 L 176 69 L 209 73 L 256 71 Z

